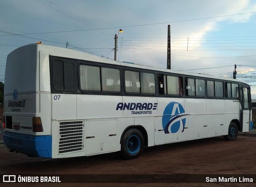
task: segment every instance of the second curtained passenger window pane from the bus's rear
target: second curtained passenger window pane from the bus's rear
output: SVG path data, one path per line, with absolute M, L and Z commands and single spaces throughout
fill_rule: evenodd
M 112 68 L 101 68 L 102 91 L 120 92 L 120 71 Z

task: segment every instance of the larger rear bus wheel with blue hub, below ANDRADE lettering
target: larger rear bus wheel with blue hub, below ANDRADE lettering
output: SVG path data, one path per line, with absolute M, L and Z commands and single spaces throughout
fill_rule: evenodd
M 121 140 L 121 153 L 125 159 L 140 156 L 144 148 L 144 137 L 138 129 L 129 129 Z

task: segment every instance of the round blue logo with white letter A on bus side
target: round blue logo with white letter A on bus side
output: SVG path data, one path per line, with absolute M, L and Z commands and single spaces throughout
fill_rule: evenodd
M 170 102 L 164 109 L 162 125 L 164 133 L 183 132 L 186 125 L 185 110 L 178 102 Z

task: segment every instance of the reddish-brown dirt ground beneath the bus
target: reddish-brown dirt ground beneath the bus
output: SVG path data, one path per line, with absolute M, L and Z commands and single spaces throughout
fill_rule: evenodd
M 122 160 L 116 153 L 108 153 L 90 157 L 65 159 L 46 159 L 28 157 L 21 153 L 11 153 L 0 143 L 0 174 L 68 174 L 74 183 L 1 183 L 0 186 L 256 186 L 254 183 L 162 183 L 162 174 L 256 174 L 256 136 L 239 135 L 236 141 L 225 141 L 223 137 L 199 139 L 155 147 L 146 147 L 137 159 Z M 81 175 L 71 174 L 111 174 L 107 177 L 119 177 L 126 182 L 126 174 L 144 177 L 151 174 L 159 183 L 76 183 Z M 125 174 L 125 175 L 120 175 Z M 98 175 L 95 175 L 96 177 Z M 99 175 L 103 176 L 104 175 Z M 158 176 L 158 177 L 154 177 Z M 181 182 L 184 177 L 181 175 Z M 182 178 L 183 177 L 183 178 Z M 204 176 L 205 177 L 205 176 Z M 183 181 L 182 181 L 183 180 Z M 186 180 L 185 180 L 186 181 Z M 131 181 L 130 181 L 131 182 Z

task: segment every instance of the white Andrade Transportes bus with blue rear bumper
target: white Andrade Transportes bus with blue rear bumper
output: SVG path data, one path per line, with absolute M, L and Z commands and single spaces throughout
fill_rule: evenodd
M 29 44 L 8 55 L 4 143 L 63 158 L 224 136 L 252 128 L 245 82 L 140 66 Z

